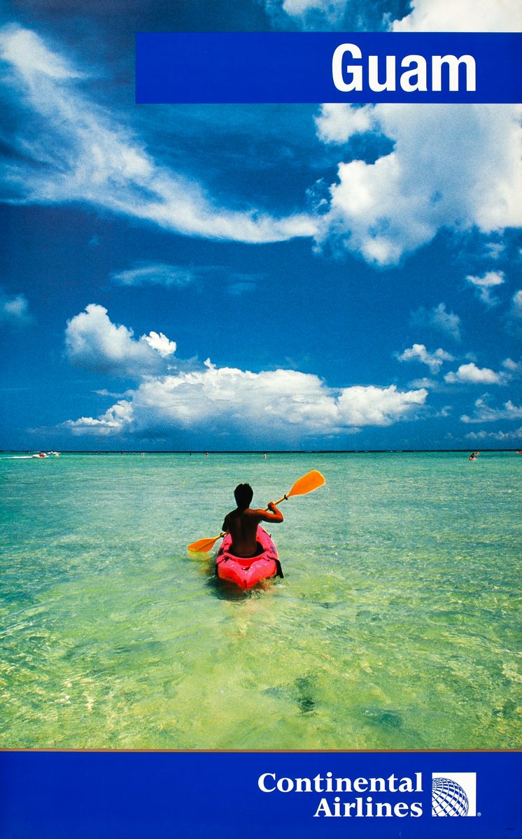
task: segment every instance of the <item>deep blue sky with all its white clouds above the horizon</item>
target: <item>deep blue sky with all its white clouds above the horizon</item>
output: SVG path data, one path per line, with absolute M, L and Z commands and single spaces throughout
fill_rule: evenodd
M 0 4 L 4 449 L 522 446 L 520 107 L 136 106 L 141 30 L 506 0 Z

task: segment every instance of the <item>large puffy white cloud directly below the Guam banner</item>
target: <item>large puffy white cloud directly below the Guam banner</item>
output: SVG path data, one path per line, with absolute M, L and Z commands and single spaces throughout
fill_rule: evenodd
M 442 227 L 501 232 L 522 224 L 522 133 L 518 105 L 388 104 L 321 106 L 325 143 L 381 133 L 394 150 L 373 164 L 338 164 L 339 183 L 316 234 L 362 253 L 370 263 L 399 262 Z

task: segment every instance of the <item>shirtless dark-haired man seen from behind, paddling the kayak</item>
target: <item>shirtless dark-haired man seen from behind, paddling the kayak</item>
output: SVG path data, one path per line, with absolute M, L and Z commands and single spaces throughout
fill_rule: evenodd
M 262 554 L 264 547 L 256 538 L 259 522 L 279 524 L 283 516 L 272 501 L 269 503 L 269 513 L 266 510 L 251 510 L 249 504 L 253 498 L 253 488 L 249 483 L 238 484 L 234 498 L 238 507 L 227 513 L 222 526 L 222 530 L 232 536 L 230 552 L 243 559 Z

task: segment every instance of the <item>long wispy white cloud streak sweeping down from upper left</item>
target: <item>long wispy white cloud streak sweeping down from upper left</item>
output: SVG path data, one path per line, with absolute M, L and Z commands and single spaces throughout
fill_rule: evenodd
M 310 216 L 278 219 L 255 208 L 218 206 L 201 185 L 157 163 L 127 128 L 90 102 L 79 86 L 81 73 L 29 29 L 0 29 L 0 57 L 7 66 L 3 81 L 25 109 L 5 168 L 12 201 L 84 201 L 173 232 L 237 242 L 279 242 L 316 231 Z

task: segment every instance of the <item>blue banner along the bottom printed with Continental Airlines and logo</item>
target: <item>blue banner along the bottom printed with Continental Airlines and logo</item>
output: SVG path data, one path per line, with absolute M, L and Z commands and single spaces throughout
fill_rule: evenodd
M 4 752 L 0 778 L 2 839 L 522 835 L 514 752 Z

